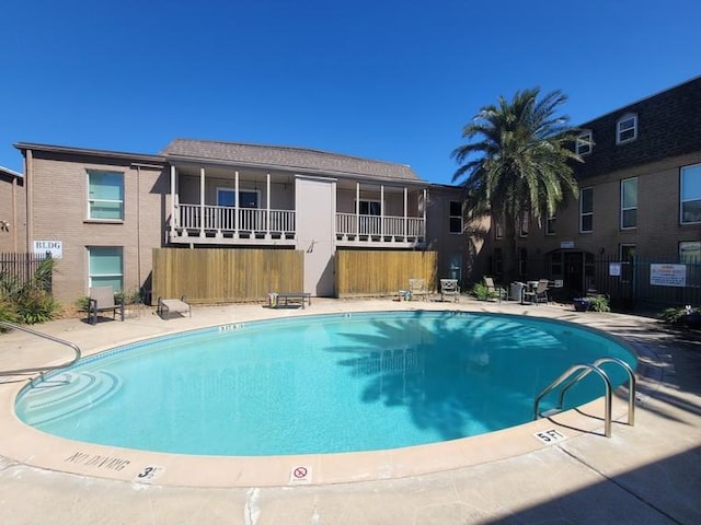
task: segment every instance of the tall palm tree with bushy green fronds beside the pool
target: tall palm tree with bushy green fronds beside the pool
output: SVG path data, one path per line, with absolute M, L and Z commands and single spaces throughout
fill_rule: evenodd
M 571 160 L 582 162 L 572 144 L 578 131 L 568 117 L 555 116 L 566 101 L 560 91 L 538 98 L 540 89 L 517 92 L 509 102 L 487 105 L 462 129 L 466 144 L 452 151 L 461 164 L 452 176 L 463 180 L 469 219 L 491 217 L 503 223 L 509 249 L 505 279 L 515 277 L 517 224 L 525 217 L 542 224 L 565 195 L 578 197 Z M 502 222 L 503 221 L 503 222 Z

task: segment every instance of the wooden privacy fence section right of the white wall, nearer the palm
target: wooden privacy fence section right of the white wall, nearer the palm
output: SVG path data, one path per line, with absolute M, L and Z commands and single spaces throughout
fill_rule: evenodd
M 437 268 L 436 252 L 337 250 L 336 295 L 395 295 L 410 279 L 425 279 L 435 290 Z

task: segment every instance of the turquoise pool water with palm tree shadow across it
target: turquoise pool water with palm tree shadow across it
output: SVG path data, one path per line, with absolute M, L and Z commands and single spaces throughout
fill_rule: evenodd
M 624 346 L 584 327 L 506 315 L 391 312 L 253 322 L 83 359 L 25 387 L 16 413 L 64 438 L 200 455 L 370 451 L 532 419 L 574 363 Z M 614 384 L 625 376 L 609 375 Z M 596 374 L 568 406 L 602 395 Z M 556 399 L 545 398 L 543 409 Z

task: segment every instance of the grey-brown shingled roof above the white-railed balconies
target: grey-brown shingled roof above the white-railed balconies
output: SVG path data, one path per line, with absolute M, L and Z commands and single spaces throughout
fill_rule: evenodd
M 171 162 L 199 161 L 334 176 L 424 183 L 405 164 L 286 145 L 175 139 L 160 152 Z

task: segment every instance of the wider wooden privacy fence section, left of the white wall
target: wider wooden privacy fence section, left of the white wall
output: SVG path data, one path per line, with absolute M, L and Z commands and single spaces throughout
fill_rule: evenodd
M 154 248 L 151 302 L 185 295 L 193 303 L 264 301 L 303 287 L 304 257 L 292 249 Z

